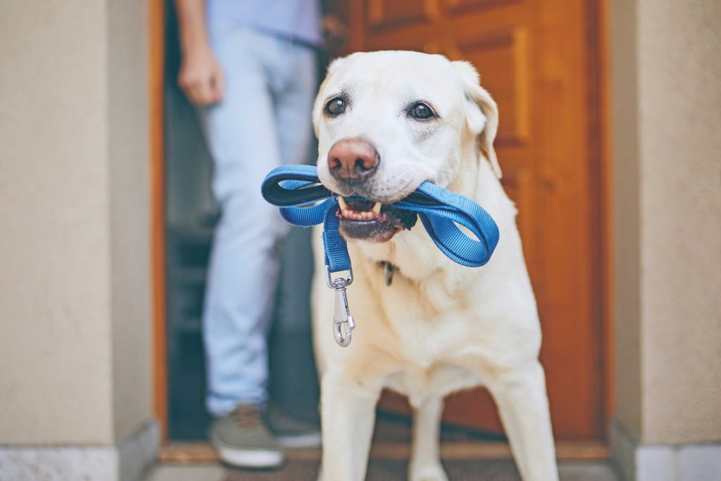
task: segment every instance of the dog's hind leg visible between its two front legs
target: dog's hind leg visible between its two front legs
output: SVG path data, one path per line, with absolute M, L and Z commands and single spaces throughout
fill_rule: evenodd
M 425 400 L 414 413 L 413 445 L 408 469 L 410 481 L 448 481 L 439 453 L 442 414 L 441 397 Z

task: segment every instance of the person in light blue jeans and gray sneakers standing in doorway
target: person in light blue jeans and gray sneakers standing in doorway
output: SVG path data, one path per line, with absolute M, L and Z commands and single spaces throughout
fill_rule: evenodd
M 288 231 L 260 184 L 280 164 L 303 162 L 311 142 L 322 44 L 317 0 L 175 0 L 178 81 L 198 105 L 213 157 L 216 226 L 203 307 L 211 441 L 239 467 L 283 462 L 279 441 L 318 444 L 317 425 L 267 426 L 267 328 Z M 283 418 L 281 418 L 283 419 Z

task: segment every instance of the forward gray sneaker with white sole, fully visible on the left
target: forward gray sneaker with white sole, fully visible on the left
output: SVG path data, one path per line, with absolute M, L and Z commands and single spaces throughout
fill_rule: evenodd
M 233 466 L 279 467 L 283 451 L 263 423 L 260 407 L 242 404 L 229 415 L 217 418 L 211 428 L 211 442 L 218 456 Z

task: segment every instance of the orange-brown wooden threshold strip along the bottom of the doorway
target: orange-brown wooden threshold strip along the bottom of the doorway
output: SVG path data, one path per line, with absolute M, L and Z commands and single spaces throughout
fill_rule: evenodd
M 371 459 L 408 459 L 407 443 L 378 442 L 371 446 Z M 291 449 L 288 460 L 320 461 L 320 449 Z M 510 459 L 508 444 L 482 441 L 441 443 L 441 458 L 446 461 L 464 459 Z M 556 444 L 559 461 L 603 461 L 609 450 L 598 441 L 561 441 Z M 219 462 L 213 446 L 207 443 L 170 444 L 160 449 L 158 460 L 164 463 Z

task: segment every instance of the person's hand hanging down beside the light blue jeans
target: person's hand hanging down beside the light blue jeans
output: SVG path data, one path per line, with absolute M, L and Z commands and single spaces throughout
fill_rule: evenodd
M 195 105 L 217 104 L 223 100 L 223 69 L 209 47 L 188 51 L 182 59 L 178 84 Z

